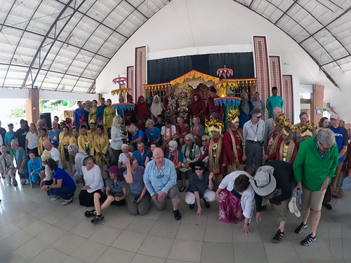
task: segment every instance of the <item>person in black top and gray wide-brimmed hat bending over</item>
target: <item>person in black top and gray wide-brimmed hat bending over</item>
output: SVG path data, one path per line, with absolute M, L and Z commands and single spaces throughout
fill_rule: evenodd
M 258 168 L 254 184 L 256 198 L 256 222 L 261 221 L 261 205 L 273 205 L 277 211 L 280 222 L 277 234 L 272 242 L 279 243 L 284 236 L 284 227 L 289 213 L 289 201 L 291 198 L 291 183 L 293 182 L 293 165 L 285 161 L 270 161 L 267 166 Z

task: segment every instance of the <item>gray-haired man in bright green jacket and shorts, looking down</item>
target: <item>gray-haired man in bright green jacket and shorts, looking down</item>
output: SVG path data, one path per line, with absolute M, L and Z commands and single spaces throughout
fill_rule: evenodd
M 312 210 L 312 231 L 301 245 L 310 245 L 316 241 L 316 231 L 321 218 L 322 201 L 331 177 L 338 166 L 338 147 L 335 135 L 329 129 L 319 130 L 319 133 L 300 144 L 298 155 L 293 163 L 293 173 L 298 182 L 294 189 L 301 189 L 303 222 L 295 229 L 300 234 L 307 228 L 307 219 Z

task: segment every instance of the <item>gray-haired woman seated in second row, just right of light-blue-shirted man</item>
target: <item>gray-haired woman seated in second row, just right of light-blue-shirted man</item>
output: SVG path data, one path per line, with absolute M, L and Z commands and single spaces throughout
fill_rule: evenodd
M 185 190 L 186 180 L 190 181 L 190 176 L 192 175 L 192 168 L 190 168 L 190 163 L 194 163 L 201 156 L 200 148 L 197 146 L 194 135 L 188 133 L 184 137 L 185 144 L 182 147 L 183 152 L 183 163 L 180 170 L 180 176 L 182 177 L 182 187 L 179 191 Z

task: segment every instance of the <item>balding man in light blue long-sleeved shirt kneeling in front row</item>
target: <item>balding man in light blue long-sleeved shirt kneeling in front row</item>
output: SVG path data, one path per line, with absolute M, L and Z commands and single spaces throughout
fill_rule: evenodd
M 178 210 L 180 194 L 177 187 L 176 168 L 172 161 L 164 158 L 164 152 L 160 148 L 154 149 L 153 161 L 147 163 L 144 182 L 157 210 L 164 210 L 168 195 L 172 199 L 174 219 L 180 220 L 182 215 Z

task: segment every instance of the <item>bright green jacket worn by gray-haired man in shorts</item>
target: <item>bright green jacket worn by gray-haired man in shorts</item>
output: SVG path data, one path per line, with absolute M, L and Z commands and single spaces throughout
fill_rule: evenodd
M 338 146 L 334 144 L 330 151 L 326 151 L 323 159 L 319 156 L 316 136 L 310 137 L 300 144 L 298 154 L 293 162 L 293 174 L 296 182 L 310 191 L 319 191 L 324 180 L 329 175 L 335 177 L 336 166 L 339 163 Z M 329 180 L 329 184 L 331 179 Z

